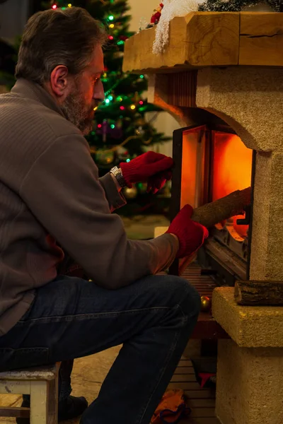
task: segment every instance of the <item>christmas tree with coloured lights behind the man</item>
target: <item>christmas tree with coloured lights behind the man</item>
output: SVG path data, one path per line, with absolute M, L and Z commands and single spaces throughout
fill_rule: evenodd
M 161 109 L 147 102 L 143 96 L 147 88 L 145 76 L 122 72 L 125 41 L 134 34 L 129 31 L 131 16 L 127 1 L 54 0 L 45 1 L 42 5 L 54 10 L 73 6 L 86 8 L 108 31 L 108 45 L 104 49 L 105 71 L 101 77 L 105 101 L 98 106 L 93 131 L 86 137 L 100 176 L 112 166 L 144 153 L 149 146 L 170 140 L 158 133 L 151 121 L 146 122 L 146 112 L 158 113 Z M 163 213 L 164 208 L 168 208 L 168 186 L 166 193 L 154 199 L 146 193 L 146 184 L 137 184 L 133 189 L 125 190 L 128 205 L 119 213 Z

